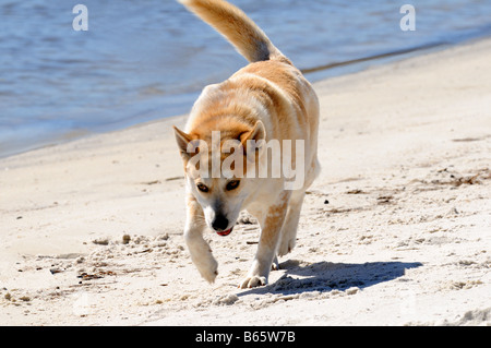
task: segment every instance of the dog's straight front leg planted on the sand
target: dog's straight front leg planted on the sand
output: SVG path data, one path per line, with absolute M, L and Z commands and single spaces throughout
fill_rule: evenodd
M 273 260 L 276 256 L 276 248 L 288 209 L 290 193 L 291 191 L 284 191 L 279 196 L 279 201 L 267 208 L 267 213 L 261 221 L 258 252 L 248 276 L 239 285 L 240 288 L 254 288 L 266 285 Z

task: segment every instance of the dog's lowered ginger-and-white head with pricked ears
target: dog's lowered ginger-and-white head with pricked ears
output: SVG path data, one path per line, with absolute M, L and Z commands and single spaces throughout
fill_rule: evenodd
M 175 127 L 175 133 L 188 189 L 202 206 L 207 226 L 229 235 L 244 202 L 258 191 L 255 168 L 266 137 L 264 124 L 208 133 L 184 133 Z

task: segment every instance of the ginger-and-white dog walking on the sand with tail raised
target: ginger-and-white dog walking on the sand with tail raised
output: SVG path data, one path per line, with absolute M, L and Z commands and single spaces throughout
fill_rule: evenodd
M 224 0 L 178 1 L 249 61 L 225 82 L 204 87 L 183 131 L 173 127 L 184 165 L 184 240 L 201 276 L 214 283 L 218 264 L 203 232 L 209 228 L 228 236 L 240 212 L 247 211 L 258 219 L 261 235 L 252 266 L 239 288 L 264 286 L 271 269 L 279 267 L 278 256 L 296 244 L 306 190 L 320 171 L 319 100 L 302 73 L 240 9 Z M 235 144 L 233 153 L 224 148 L 228 141 Z M 296 144 L 295 155 L 285 155 L 288 141 Z M 274 142 L 278 146 L 265 145 Z M 255 146 L 248 146 L 250 143 Z M 297 170 L 300 184 L 288 188 L 285 172 L 274 175 L 275 167 L 267 167 L 273 149 L 283 152 L 284 165 L 301 169 Z M 196 164 L 193 154 L 203 158 Z M 229 166 L 228 175 L 220 169 L 212 177 L 203 175 L 212 163 L 221 168 L 231 156 L 235 165 Z M 258 175 L 261 165 L 267 167 L 263 176 Z M 239 172 L 240 167 L 247 175 Z

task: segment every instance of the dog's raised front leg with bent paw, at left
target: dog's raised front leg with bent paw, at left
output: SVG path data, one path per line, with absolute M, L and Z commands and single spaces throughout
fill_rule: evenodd
M 213 257 L 208 243 L 203 239 L 203 231 L 206 229 L 203 209 L 191 193 L 188 193 L 187 204 L 184 240 L 191 260 L 201 276 L 208 283 L 214 283 L 218 274 L 218 263 Z

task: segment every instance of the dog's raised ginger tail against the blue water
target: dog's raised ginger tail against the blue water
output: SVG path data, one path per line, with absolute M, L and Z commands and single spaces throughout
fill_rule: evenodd
M 288 61 L 246 13 L 227 1 L 178 1 L 225 36 L 250 62 L 270 59 Z

